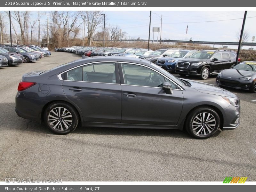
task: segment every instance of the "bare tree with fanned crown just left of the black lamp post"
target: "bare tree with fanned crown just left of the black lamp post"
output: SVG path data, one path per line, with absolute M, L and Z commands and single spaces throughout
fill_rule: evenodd
M 104 21 L 101 11 L 84 11 L 85 24 L 87 27 L 88 46 L 92 44 L 92 36 L 99 25 Z

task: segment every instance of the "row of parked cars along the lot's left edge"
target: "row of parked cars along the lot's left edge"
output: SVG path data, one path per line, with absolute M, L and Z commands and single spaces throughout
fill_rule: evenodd
M 20 65 L 33 62 L 42 57 L 51 55 L 51 52 L 37 46 L 1 46 L 0 67 Z

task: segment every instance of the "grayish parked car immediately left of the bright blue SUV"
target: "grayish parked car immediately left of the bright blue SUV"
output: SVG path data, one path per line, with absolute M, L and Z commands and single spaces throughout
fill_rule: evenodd
M 152 53 L 150 53 L 150 55 L 141 55 L 139 57 L 139 59 L 145 59 L 145 60 L 149 60 L 152 63 L 156 64 L 156 61 L 158 58 L 160 57 L 167 57 L 169 55 L 171 55 L 172 53 L 179 51 L 181 49 L 176 49 L 176 48 L 171 48 L 171 49 L 158 49 Z

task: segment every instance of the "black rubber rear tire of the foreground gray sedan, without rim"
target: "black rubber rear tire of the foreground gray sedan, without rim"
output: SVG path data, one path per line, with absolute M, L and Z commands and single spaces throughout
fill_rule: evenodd
M 63 107 L 63 108 L 66 108 L 68 109 L 68 111 L 71 113 L 72 115 L 72 124 L 70 126 L 70 128 L 68 128 L 67 130 L 65 131 L 58 131 L 58 130 L 55 130 L 52 128 L 52 126 L 49 124 L 49 121 L 48 121 L 48 115 L 50 113 L 50 111 L 53 109 L 53 108 L 56 108 L 56 107 Z M 49 105 L 45 111 L 44 111 L 44 122 L 45 124 L 47 125 L 47 128 L 53 132 L 53 133 L 56 133 L 56 134 L 59 134 L 59 135 L 65 135 L 65 134 L 68 134 L 69 132 L 72 132 L 76 129 L 77 125 L 78 125 L 78 121 L 79 121 L 79 117 L 78 117 L 78 114 L 76 112 L 76 109 L 74 109 L 71 105 L 67 104 L 67 103 L 62 103 L 62 102 L 58 102 L 58 103 L 52 103 L 51 105 Z

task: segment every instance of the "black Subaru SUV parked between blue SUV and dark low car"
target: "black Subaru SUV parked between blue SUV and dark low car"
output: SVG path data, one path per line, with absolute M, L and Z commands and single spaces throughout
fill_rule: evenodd
M 240 61 L 240 59 L 238 60 Z M 230 50 L 200 50 L 188 58 L 178 61 L 175 72 L 180 76 L 200 76 L 208 79 L 224 69 L 233 68 L 236 63 L 236 52 Z

